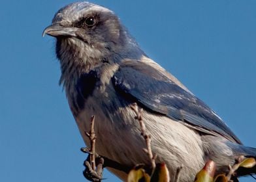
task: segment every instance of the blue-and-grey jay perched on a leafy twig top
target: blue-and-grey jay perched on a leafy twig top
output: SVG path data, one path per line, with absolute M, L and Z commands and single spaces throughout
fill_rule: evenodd
M 165 162 L 170 181 L 181 165 L 180 181 L 193 181 L 209 160 L 221 174 L 240 155 L 256 157 L 255 148 L 244 146 L 214 110 L 144 53 L 112 10 L 86 1 L 71 3 L 56 12 L 44 34 L 56 38 L 59 83 L 87 146 L 89 118 L 96 116 L 99 155 L 129 168 L 150 164 L 131 109 L 137 103 L 156 162 Z M 108 169 L 127 178 L 121 168 Z M 255 172 L 253 167 L 237 175 Z

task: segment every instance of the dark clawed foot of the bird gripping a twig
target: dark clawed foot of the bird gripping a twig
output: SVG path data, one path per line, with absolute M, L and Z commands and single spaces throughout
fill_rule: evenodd
M 104 159 L 103 157 L 95 154 L 95 166 L 96 168 L 93 169 L 91 165 L 91 157 L 90 157 L 90 149 L 89 148 L 81 148 L 81 151 L 84 153 L 89 153 L 88 158 L 84 161 L 84 166 L 86 169 L 83 171 L 84 177 L 89 181 L 101 181 L 103 176 L 103 164 Z

